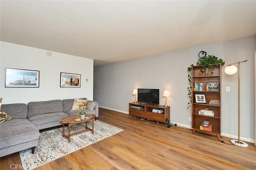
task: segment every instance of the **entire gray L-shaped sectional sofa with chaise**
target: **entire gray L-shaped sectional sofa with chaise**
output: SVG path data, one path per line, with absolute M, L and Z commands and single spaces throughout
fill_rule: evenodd
M 81 98 L 87 100 L 86 98 Z M 0 123 L 0 157 L 38 145 L 39 130 L 62 125 L 59 120 L 78 115 L 81 110 L 71 110 L 74 99 L 29 102 L 28 104 L 2 104 L 1 110 L 12 117 Z M 98 117 L 99 104 L 89 101 L 93 107 L 88 114 Z

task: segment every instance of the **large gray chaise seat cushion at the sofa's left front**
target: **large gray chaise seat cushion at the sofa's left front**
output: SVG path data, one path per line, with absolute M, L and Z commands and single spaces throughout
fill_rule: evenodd
M 0 123 L 0 149 L 39 138 L 39 130 L 27 119 L 11 119 Z

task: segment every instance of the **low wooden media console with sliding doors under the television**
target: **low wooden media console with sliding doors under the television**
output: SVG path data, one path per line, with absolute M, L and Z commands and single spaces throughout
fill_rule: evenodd
M 132 108 L 132 106 L 140 107 L 140 109 Z M 163 109 L 163 113 L 155 113 L 152 110 L 154 108 Z M 151 119 L 158 122 L 167 123 L 168 118 L 170 118 L 170 106 L 164 107 L 162 105 L 153 105 L 146 103 L 129 103 L 129 115 L 134 115 L 136 117 Z

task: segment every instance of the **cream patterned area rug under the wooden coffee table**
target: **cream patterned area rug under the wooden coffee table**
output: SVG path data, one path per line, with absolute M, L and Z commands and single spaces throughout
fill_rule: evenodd
M 92 128 L 92 121 L 88 122 L 87 125 Z M 80 131 L 84 127 L 85 123 L 73 125 L 71 126 L 71 133 Z M 123 130 L 97 120 L 94 121 L 94 135 L 91 131 L 79 133 L 71 136 L 71 141 L 68 143 L 68 139 L 62 137 L 62 127 L 52 129 L 40 133 L 34 154 L 31 154 L 31 149 L 22 150 L 20 151 L 20 159 L 24 170 L 31 170 L 121 131 Z M 65 134 L 68 134 L 68 127 L 65 127 Z

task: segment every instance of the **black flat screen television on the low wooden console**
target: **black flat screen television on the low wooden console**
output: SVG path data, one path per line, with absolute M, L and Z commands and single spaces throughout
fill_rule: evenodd
M 138 102 L 159 104 L 159 89 L 138 88 Z

